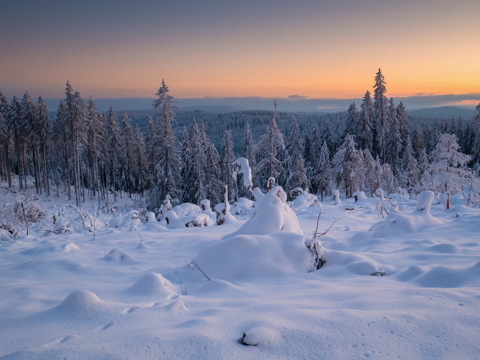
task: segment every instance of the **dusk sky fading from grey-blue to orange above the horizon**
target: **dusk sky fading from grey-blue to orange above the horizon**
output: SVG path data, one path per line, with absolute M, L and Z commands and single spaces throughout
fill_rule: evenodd
M 477 0 L 86 2 L 4 6 L 0 90 L 361 97 L 381 67 L 391 96 L 480 92 Z

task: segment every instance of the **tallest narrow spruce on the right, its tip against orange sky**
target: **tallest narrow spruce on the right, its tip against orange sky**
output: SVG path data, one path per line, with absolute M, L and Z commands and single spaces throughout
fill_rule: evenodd
M 386 99 L 385 79 L 378 69 L 375 75 L 373 109 L 375 111 L 375 129 L 376 129 L 376 152 L 380 156 L 382 163 L 386 161 L 386 137 L 388 134 L 388 100 Z

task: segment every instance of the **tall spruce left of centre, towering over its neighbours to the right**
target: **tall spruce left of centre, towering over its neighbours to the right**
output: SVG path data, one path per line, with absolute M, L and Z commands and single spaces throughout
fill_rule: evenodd
M 158 99 L 153 102 L 153 107 L 160 110 L 158 117 L 158 141 L 156 182 L 158 186 L 158 200 L 170 194 L 176 198 L 180 194 L 180 157 L 178 155 L 178 139 L 172 129 L 174 121 L 173 96 L 168 94 L 168 86 L 161 80 L 161 87 L 156 92 Z

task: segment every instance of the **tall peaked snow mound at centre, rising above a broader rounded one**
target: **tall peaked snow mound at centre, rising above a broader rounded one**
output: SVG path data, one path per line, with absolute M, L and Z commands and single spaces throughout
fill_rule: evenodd
M 286 231 L 303 235 L 298 218 L 286 204 L 286 193 L 280 186 L 275 186 L 253 203 L 250 218 L 236 231 L 223 236 L 264 235 Z

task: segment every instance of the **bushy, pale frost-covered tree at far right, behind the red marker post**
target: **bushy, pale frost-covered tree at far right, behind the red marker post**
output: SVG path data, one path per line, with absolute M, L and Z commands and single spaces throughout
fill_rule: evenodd
M 430 156 L 429 172 L 435 181 L 436 189 L 441 192 L 450 190 L 450 194 L 461 193 L 468 175 L 466 163 L 471 156 L 461 152 L 456 136 L 441 134 Z

